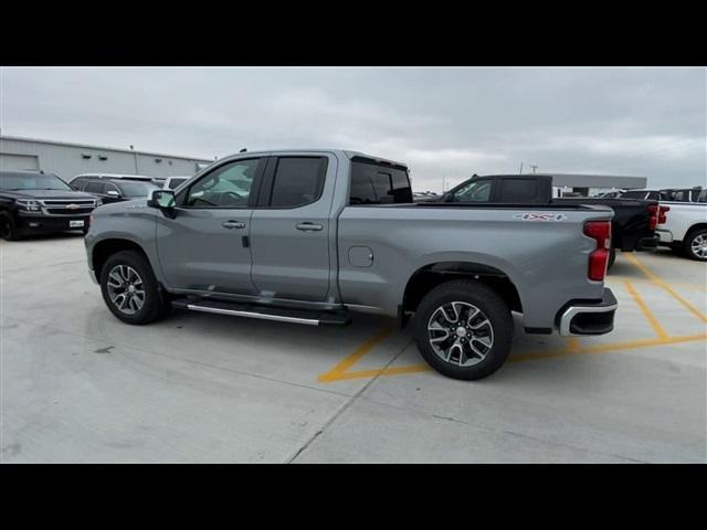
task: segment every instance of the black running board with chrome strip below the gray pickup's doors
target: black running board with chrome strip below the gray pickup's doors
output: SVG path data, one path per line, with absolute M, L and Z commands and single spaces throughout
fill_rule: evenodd
M 278 322 L 304 324 L 305 326 L 346 326 L 351 316 L 347 311 L 319 311 L 289 309 L 284 307 L 256 306 L 223 300 L 178 298 L 172 307 L 191 311 L 215 312 L 233 317 L 257 318 Z

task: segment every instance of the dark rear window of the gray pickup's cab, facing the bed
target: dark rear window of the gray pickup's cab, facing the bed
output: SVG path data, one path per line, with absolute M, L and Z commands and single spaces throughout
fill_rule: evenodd
M 412 202 L 408 172 L 374 163 L 351 163 L 349 204 L 391 204 Z

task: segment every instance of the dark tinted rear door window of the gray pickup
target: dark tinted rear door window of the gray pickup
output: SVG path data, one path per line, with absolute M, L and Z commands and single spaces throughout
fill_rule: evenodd
M 270 205 L 296 208 L 319 199 L 327 159 L 323 157 L 281 157 L 277 160 Z

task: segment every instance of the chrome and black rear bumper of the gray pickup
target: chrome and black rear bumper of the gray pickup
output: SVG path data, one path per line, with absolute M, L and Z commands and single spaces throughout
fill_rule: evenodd
M 610 288 L 601 300 L 572 300 L 558 314 L 560 335 L 604 335 L 614 329 L 614 314 L 619 303 Z

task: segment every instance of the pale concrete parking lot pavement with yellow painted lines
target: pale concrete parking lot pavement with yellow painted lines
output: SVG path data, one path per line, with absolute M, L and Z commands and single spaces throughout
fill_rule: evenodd
M 81 235 L 0 242 L 3 463 L 707 460 L 705 264 L 619 255 L 612 333 L 526 336 L 478 382 L 409 330 L 105 307 Z

